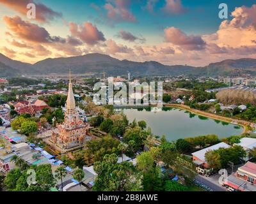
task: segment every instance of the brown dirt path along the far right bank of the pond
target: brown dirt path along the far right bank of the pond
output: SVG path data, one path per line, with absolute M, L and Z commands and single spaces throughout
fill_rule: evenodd
M 248 130 L 247 126 L 250 126 L 250 122 L 246 121 L 246 120 L 237 120 L 237 119 L 232 119 L 229 117 L 224 117 L 221 115 L 216 115 L 214 113 L 208 113 L 208 112 L 204 112 L 202 110 L 196 110 L 193 108 L 190 108 L 189 106 L 186 105 L 181 105 L 181 104 L 166 104 L 164 106 L 168 106 L 168 107 L 173 107 L 173 108 L 180 108 L 182 110 L 188 110 L 191 113 L 195 113 L 196 115 L 201 115 L 201 116 L 205 116 L 205 117 L 209 117 L 211 119 L 215 119 L 215 120 L 221 120 L 223 122 L 228 122 L 228 123 L 232 123 L 232 124 L 236 124 L 239 126 L 242 126 L 244 128 L 243 133 L 248 133 L 250 132 L 250 130 Z M 241 134 L 243 134 L 241 133 Z

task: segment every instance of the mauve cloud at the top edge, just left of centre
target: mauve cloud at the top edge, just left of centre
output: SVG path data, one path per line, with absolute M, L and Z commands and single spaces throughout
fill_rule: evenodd
M 131 11 L 129 11 L 130 5 L 130 0 L 109 0 L 108 3 L 104 5 L 104 8 L 108 11 L 108 18 L 111 20 L 135 22 L 136 18 Z

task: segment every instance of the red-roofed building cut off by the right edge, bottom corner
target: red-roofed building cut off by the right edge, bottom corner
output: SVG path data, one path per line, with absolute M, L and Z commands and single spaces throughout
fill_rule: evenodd
M 227 178 L 225 185 L 237 191 L 256 191 L 256 164 L 248 161 Z

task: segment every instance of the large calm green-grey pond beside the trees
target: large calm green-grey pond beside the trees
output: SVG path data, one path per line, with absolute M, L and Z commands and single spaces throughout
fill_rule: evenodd
M 127 115 L 129 122 L 145 120 L 154 135 L 165 135 L 168 141 L 199 135 L 218 135 L 219 138 L 240 135 L 243 127 L 214 120 L 178 108 L 156 107 L 124 108 L 119 110 Z

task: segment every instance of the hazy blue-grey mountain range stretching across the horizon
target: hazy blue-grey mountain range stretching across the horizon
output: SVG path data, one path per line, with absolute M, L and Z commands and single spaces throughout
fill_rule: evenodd
M 127 75 L 129 71 L 133 76 L 146 75 L 188 75 L 194 77 L 208 76 L 239 76 L 251 74 L 256 76 L 256 59 L 227 59 L 211 63 L 204 67 L 164 65 L 156 61 L 134 62 L 118 60 L 104 54 L 86 54 L 76 57 L 48 58 L 35 64 L 15 61 L 0 54 L 0 77 L 18 77 L 20 75 L 47 75 L 68 73 L 71 69 L 74 74 Z

